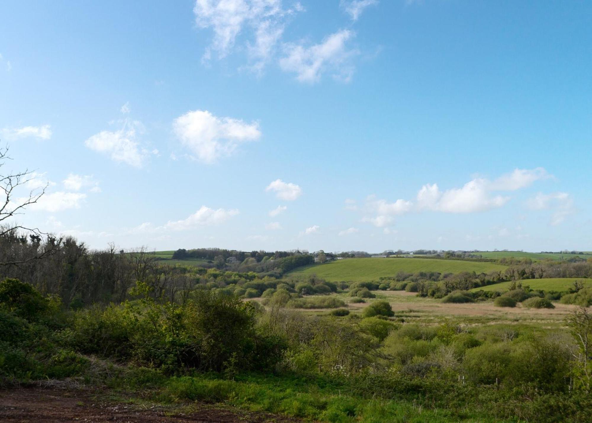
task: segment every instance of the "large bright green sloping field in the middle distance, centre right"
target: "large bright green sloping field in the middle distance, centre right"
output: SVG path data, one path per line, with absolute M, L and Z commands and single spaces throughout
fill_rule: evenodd
M 348 258 L 326 264 L 299 267 L 288 276 L 316 274 L 328 281 L 369 281 L 381 276 L 394 276 L 398 271 L 459 273 L 475 271 L 488 273 L 506 270 L 506 266 L 479 261 L 445 260 L 432 258 Z

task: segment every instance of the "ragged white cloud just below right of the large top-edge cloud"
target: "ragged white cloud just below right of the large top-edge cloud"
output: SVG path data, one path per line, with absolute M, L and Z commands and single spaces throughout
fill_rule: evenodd
M 285 57 L 279 60 L 279 66 L 285 72 L 296 73 L 300 82 L 318 82 L 324 72 L 332 73 L 338 81 L 349 82 L 353 75 L 351 59 L 358 52 L 348 49 L 346 44 L 354 36 L 353 31 L 340 30 L 310 47 L 303 43 L 285 44 Z

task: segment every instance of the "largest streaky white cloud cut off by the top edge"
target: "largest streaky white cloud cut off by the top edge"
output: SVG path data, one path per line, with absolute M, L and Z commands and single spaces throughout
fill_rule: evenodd
M 304 8 L 297 2 L 285 9 L 281 0 L 197 0 L 193 11 L 197 26 L 214 35 L 202 61 L 209 61 L 212 52 L 219 59 L 226 57 L 242 35 L 249 67 L 261 72 L 274 55 L 288 18 Z

